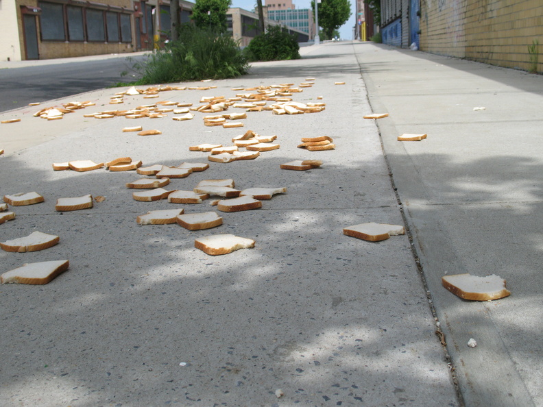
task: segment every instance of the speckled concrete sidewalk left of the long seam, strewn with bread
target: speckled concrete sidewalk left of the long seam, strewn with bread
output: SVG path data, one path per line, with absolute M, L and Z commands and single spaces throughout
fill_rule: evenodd
M 0 404 L 458 405 L 408 236 L 369 243 L 342 234 L 366 221 L 402 223 L 376 123 L 362 119 L 372 108 L 355 50 L 349 42 L 326 44 L 304 51 L 302 60 L 254 64 L 245 77 L 206 83 L 215 89 L 170 91 L 159 99 L 140 95 L 109 105 L 117 88 L 44 103 L 95 101 L 58 121 L 33 117 L 37 108 L 0 114 L 21 118 L 0 125 L 6 151 L 0 193 L 45 196 L 43 204 L 16 207 L 17 218 L 0 225 L 0 241 L 34 230 L 60 236 L 59 245 L 44 251 L 1 251 L 1 271 L 24 262 L 71 262 L 46 286 L 0 286 Z M 83 117 L 156 100 L 197 104 L 203 96 L 234 96 L 238 86 L 298 85 L 306 77 L 315 77 L 315 85 L 294 100 L 322 96 L 324 112 L 251 113 L 243 129 L 204 127 L 203 114 L 187 122 L 171 114 Z M 346 85 L 335 86 L 339 81 Z M 121 132 L 132 125 L 162 135 Z M 125 183 L 141 175 L 51 169 L 53 162 L 121 156 L 145 166 L 206 162 L 206 153 L 188 147 L 230 145 L 246 130 L 276 134 L 280 149 L 254 161 L 211 162 L 167 188 L 232 178 L 238 188 L 286 186 L 287 193 L 264 201 L 261 210 L 219 212 L 224 225 L 213 230 L 137 225 L 149 210 L 215 210 L 207 203 L 134 201 Z M 320 135 L 333 137 L 337 148 L 296 148 L 300 138 Z M 307 158 L 324 165 L 279 169 Z M 85 194 L 106 200 L 90 210 L 54 210 L 57 198 Z M 254 238 L 256 247 L 216 257 L 195 249 L 197 236 L 218 233 Z

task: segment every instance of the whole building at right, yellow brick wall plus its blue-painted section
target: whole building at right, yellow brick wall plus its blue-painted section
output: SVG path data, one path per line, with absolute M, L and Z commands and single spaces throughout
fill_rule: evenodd
M 381 34 L 396 47 L 528 71 L 543 47 L 543 1 L 381 0 Z

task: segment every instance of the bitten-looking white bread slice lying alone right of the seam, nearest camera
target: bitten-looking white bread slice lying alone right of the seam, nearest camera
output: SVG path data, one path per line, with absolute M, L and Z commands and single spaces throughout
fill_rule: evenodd
M 507 297 L 511 293 L 505 288 L 505 280 L 492 274 L 486 277 L 477 275 L 444 275 L 442 284 L 448 291 L 463 299 L 472 301 L 490 301 Z

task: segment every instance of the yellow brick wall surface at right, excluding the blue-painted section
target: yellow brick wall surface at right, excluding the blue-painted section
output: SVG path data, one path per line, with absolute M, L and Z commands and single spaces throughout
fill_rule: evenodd
M 421 0 L 421 12 L 423 51 L 527 71 L 533 40 L 543 53 L 542 0 Z

